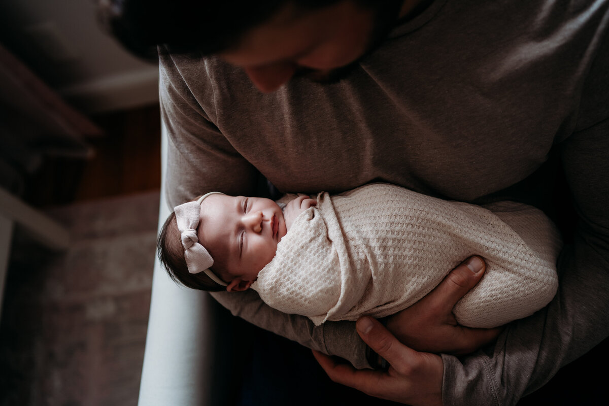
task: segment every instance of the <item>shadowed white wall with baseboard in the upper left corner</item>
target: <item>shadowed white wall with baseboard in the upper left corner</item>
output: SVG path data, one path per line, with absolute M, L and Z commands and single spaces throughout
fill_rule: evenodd
M 158 102 L 158 66 L 102 32 L 96 0 L 3 0 L 0 42 L 83 112 Z

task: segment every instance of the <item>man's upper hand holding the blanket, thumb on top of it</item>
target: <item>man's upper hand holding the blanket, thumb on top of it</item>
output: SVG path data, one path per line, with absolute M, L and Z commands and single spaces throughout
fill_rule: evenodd
M 501 327 L 473 329 L 457 323 L 452 308 L 484 275 L 486 265 L 473 256 L 454 268 L 423 299 L 387 318 L 387 329 L 417 351 L 469 354 L 495 340 Z

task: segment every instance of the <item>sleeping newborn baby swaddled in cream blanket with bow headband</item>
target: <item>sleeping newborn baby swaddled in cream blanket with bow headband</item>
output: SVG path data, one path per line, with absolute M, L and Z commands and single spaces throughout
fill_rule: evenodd
M 278 202 L 212 192 L 177 206 L 159 240 L 161 261 L 183 284 L 252 287 L 269 306 L 318 325 L 395 313 L 479 255 L 487 272 L 454 314 L 464 326 L 500 326 L 551 301 L 559 250 L 557 229 L 538 209 L 445 201 L 385 183 Z

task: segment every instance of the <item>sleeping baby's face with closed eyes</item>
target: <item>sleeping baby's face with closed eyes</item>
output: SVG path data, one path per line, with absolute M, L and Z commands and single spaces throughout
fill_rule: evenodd
M 266 198 L 210 195 L 201 202 L 200 219 L 199 240 L 229 284 L 255 281 L 287 233 L 281 208 Z

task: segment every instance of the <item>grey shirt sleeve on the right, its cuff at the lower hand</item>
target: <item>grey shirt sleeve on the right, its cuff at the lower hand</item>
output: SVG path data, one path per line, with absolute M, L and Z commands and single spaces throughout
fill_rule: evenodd
M 560 145 L 577 214 L 558 258 L 558 292 L 509 324 L 495 347 L 443 355 L 446 405 L 514 405 L 609 336 L 609 38 L 585 84 L 575 130 Z

